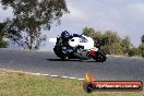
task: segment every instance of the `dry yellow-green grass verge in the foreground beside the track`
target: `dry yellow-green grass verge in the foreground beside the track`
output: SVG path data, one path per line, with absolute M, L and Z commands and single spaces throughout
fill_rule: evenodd
M 0 71 L 0 96 L 144 96 L 144 91 L 87 94 L 83 81 Z

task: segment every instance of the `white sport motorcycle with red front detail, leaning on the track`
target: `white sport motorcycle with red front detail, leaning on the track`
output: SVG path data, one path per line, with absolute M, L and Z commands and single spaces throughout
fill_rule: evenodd
M 55 45 L 55 53 L 62 60 L 80 59 L 88 60 L 94 59 L 97 62 L 106 61 L 105 52 L 94 47 L 94 40 L 85 35 L 73 34 L 64 40 L 62 36 L 50 38 L 49 43 Z

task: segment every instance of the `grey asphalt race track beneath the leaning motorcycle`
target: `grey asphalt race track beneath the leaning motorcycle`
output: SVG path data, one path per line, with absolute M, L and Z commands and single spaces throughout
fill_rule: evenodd
M 83 79 L 89 72 L 98 81 L 143 81 L 144 59 L 108 56 L 106 62 L 94 60 L 61 61 L 50 51 L 0 49 L 0 69 Z

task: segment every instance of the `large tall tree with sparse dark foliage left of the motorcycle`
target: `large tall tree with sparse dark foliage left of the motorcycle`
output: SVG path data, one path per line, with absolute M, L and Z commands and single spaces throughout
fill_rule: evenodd
M 13 19 L 7 20 L 4 35 L 23 48 L 39 48 L 46 40 L 41 29 L 50 29 L 68 13 L 64 0 L 1 0 L 4 9 L 13 9 Z

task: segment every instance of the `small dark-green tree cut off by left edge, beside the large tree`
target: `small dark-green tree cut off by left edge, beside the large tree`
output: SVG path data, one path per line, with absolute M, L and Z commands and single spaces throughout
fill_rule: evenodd
M 4 23 L 0 23 L 0 48 L 5 48 L 8 46 L 7 41 L 3 40 L 2 28 L 4 27 Z

